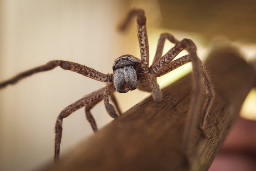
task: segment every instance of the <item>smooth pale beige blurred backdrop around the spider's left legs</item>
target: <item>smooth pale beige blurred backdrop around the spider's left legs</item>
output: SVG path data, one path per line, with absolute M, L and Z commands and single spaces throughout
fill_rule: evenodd
M 127 35 L 116 31 L 131 4 L 117 0 L 2 0 L 0 80 L 54 59 L 112 73 L 118 56 L 139 56 L 135 25 Z M 103 86 L 55 68 L 0 90 L 0 170 L 31 170 L 52 162 L 54 124 L 60 111 Z M 139 91 L 118 95 L 122 110 L 145 95 Z M 92 114 L 99 128 L 112 120 L 103 103 Z M 61 153 L 92 134 L 84 109 L 65 119 L 63 128 Z

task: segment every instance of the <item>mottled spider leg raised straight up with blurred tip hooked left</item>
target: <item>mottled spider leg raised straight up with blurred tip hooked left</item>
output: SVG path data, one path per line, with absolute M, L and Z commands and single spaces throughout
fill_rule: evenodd
M 133 9 L 129 12 L 126 20 L 119 26 L 121 31 L 124 31 L 128 24 L 130 23 L 133 16 L 137 16 L 137 30 L 138 30 L 138 40 L 140 47 L 140 69 L 146 71 L 149 66 L 149 44 L 148 35 L 146 32 L 146 17 L 145 11 L 142 9 Z

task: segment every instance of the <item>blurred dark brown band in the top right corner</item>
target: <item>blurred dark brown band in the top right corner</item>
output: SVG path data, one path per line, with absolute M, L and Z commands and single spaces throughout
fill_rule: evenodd
M 256 40 L 256 1 L 159 0 L 159 6 L 160 27 L 197 32 L 208 39 Z

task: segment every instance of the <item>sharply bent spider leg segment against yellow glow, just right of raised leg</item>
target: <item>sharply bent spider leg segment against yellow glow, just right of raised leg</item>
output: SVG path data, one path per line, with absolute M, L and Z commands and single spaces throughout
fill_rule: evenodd
M 161 33 L 160 37 L 158 39 L 158 45 L 156 47 L 156 53 L 155 53 L 155 57 L 152 62 L 152 65 L 154 65 L 162 56 L 162 52 L 164 50 L 164 44 L 165 44 L 166 39 L 168 39 L 170 42 L 172 42 L 174 44 L 178 42 L 178 40 L 175 39 L 175 37 L 173 35 L 171 35 L 170 33 Z

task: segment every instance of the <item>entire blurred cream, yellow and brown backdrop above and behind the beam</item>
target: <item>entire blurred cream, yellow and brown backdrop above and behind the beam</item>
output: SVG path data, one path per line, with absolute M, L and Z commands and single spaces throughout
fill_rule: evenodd
M 0 0 L 0 81 L 56 59 L 112 73 L 117 57 L 139 57 L 135 20 L 127 33 L 116 29 L 134 7 L 146 12 L 150 61 L 162 32 L 192 39 L 202 60 L 209 49 L 226 42 L 239 47 L 247 60 L 256 56 L 256 5 L 252 0 Z M 164 51 L 172 46 L 166 42 Z M 186 64 L 159 78 L 160 86 L 182 77 L 190 68 Z M 0 170 L 32 170 L 52 162 L 54 125 L 60 111 L 103 86 L 55 68 L 1 89 Z M 115 94 L 122 111 L 150 95 L 140 90 Z M 256 120 L 255 97 L 252 90 L 242 108 L 244 118 Z M 102 102 L 91 112 L 98 128 L 112 120 Z M 92 133 L 84 109 L 65 118 L 61 154 Z

